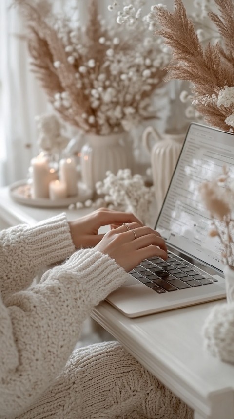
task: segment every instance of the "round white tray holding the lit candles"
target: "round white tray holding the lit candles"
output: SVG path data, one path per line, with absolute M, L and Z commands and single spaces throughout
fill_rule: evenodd
M 26 180 L 20 180 L 9 186 L 10 197 L 20 204 L 40 208 L 64 208 L 76 202 L 85 202 L 91 199 L 93 192 L 85 187 L 81 182 L 78 183 L 79 194 L 64 199 L 52 200 L 49 198 L 32 198 L 30 195 L 31 186 Z

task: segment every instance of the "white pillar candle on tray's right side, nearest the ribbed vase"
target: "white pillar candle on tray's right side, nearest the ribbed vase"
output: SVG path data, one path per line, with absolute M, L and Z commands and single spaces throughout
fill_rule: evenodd
M 72 197 L 78 194 L 77 181 L 78 174 L 76 170 L 76 163 L 73 158 L 66 158 L 60 160 L 59 174 L 62 182 L 67 185 L 67 195 Z

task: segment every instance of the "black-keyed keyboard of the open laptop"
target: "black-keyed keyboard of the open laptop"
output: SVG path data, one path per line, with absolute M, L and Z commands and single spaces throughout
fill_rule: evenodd
M 170 252 L 167 261 L 154 256 L 129 273 L 158 294 L 217 282 L 213 276 Z

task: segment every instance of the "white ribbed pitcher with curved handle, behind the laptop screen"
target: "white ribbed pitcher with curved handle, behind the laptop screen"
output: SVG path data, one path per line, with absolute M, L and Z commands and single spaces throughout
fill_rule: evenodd
M 153 137 L 154 145 L 150 142 Z M 153 127 L 147 127 L 142 135 L 144 146 L 151 154 L 153 184 L 159 213 L 168 190 L 185 134 L 164 133 L 162 136 Z

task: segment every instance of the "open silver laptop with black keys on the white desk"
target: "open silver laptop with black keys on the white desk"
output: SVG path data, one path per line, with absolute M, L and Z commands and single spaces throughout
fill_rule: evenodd
M 221 244 L 210 237 L 210 217 L 198 187 L 234 168 L 234 135 L 191 123 L 155 229 L 168 260 L 144 260 L 107 301 L 127 317 L 140 317 L 226 298 Z

